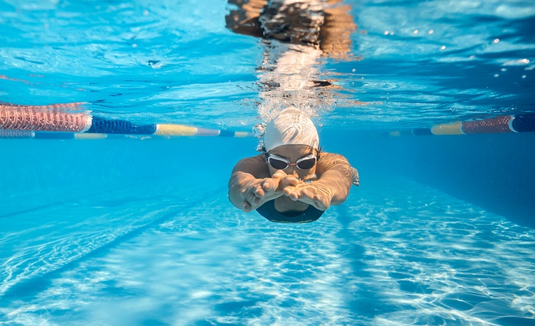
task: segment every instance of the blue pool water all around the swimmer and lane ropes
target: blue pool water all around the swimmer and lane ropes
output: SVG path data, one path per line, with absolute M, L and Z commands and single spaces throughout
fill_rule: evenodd
M 359 169 L 345 203 L 241 213 L 254 138 L 2 139 L 0 325 L 535 325 L 534 133 L 382 137 L 533 112 L 535 6 L 344 3 L 314 121 Z M 266 47 L 233 9 L 1 0 L 0 101 L 249 131 Z

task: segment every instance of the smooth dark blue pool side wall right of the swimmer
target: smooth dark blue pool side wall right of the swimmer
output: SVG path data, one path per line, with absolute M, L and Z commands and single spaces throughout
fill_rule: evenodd
M 535 227 L 535 134 L 377 137 L 324 130 L 324 149 L 341 152 L 368 176 L 392 173 L 440 189 L 514 223 Z

